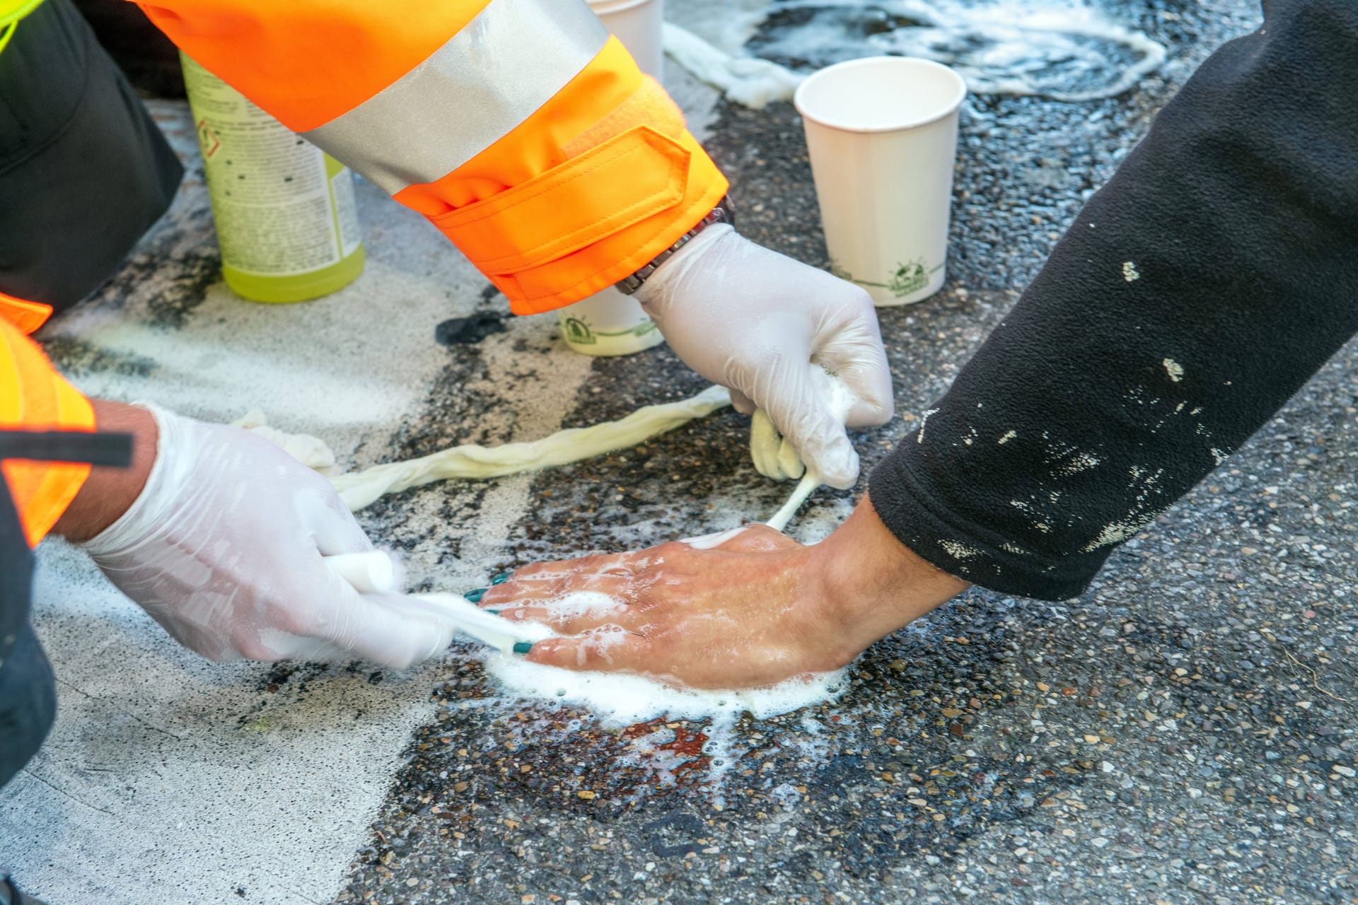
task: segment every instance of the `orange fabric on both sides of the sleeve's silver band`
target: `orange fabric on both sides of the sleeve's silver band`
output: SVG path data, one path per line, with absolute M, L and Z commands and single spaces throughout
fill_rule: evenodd
M 189 56 L 300 132 L 344 115 L 401 80 L 489 3 L 162 0 L 143 5 Z M 534 62 L 523 60 L 523 65 Z M 430 109 L 429 115 L 437 117 L 439 110 Z M 603 151 L 638 126 L 652 130 L 645 148 L 627 140 Z M 375 129 L 371 141 L 372 147 L 364 142 L 361 148 L 369 160 L 380 153 L 401 161 L 401 142 L 392 136 Z M 627 153 L 610 157 L 622 144 L 629 145 Z M 595 148 L 600 149 L 599 166 L 570 168 L 573 157 Z M 331 152 L 345 159 L 341 148 Z M 554 176 L 558 167 L 570 178 Z M 493 217 L 481 218 L 477 229 L 462 228 L 460 209 L 535 180 L 538 189 L 550 187 L 550 195 L 519 191 Z M 678 107 L 644 80 L 631 56 L 611 38 L 494 144 L 439 179 L 406 186 L 395 198 L 463 246 L 515 312 L 535 313 L 579 301 L 637 271 L 725 193 L 725 178 L 684 130 Z M 549 197 L 558 202 L 547 204 Z M 515 199 L 523 204 L 509 204 Z

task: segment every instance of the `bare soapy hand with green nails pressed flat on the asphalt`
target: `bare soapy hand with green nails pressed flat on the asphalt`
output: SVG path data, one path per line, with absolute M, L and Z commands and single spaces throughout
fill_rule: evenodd
M 690 688 L 751 688 L 851 662 L 868 644 L 967 588 L 900 544 L 864 499 L 820 544 L 748 525 L 703 548 L 536 563 L 482 606 L 549 625 L 532 662 L 640 673 Z M 604 594 L 611 606 L 562 605 Z

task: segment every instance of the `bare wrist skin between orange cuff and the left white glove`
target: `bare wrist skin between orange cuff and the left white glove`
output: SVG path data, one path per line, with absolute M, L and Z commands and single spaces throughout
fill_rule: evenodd
M 91 399 L 95 427 L 106 433 L 132 434 L 132 464 L 126 468 L 94 467 L 52 533 L 71 541 L 86 541 L 118 520 L 145 487 L 156 459 L 159 430 L 149 411 L 137 406 Z

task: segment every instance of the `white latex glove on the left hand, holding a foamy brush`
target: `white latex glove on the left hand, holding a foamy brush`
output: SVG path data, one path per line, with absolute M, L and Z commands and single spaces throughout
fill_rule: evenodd
M 394 668 L 448 646 L 451 620 L 360 594 L 326 566 L 372 544 L 325 478 L 249 431 L 151 411 L 160 438 L 147 486 L 81 545 L 177 640 L 220 662 Z

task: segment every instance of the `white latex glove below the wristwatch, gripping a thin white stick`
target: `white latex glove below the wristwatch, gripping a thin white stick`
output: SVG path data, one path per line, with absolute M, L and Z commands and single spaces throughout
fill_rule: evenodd
M 796 455 L 760 455 L 756 440 L 762 474 L 794 478 L 800 459 L 832 487 L 854 484 L 858 453 L 845 426 L 881 425 L 894 412 L 866 292 L 721 224 L 680 248 L 636 297 L 684 364 L 731 389 L 737 411 L 767 412 Z

